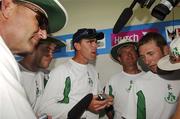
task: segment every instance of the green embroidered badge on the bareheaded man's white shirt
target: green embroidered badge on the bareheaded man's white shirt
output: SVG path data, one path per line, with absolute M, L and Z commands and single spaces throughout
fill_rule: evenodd
M 168 94 L 166 97 L 164 97 L 165 101 L 170 104 L 174 104 L 177 102 L 177 96 L 172 92 L 173 88 L 171 84 L 168 84 L 167 86 Z

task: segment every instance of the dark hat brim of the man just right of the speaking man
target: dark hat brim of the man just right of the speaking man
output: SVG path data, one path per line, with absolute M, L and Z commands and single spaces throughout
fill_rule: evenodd
M 115 60 L 116 62 L 119 62 L 117 57 L 118 57 L 118 53 L 117 50 L 121 47 L 127 46 L 129 44 L 133 44 L 135 45 L 135 47 L 137 47 L 137 43 L 136 42 L 127 42 L 127 43 L 123 43 L 123 44 L 117 44 L 115 46 L 112 47 L 111 49 L 111 57 L 113 60 Z

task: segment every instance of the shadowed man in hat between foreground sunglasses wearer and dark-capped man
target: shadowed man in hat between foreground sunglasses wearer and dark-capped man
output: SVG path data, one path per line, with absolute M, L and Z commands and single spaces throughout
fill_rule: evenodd
M 37 116 L 41 97 L 49 79 L 48 67 L 56 51 L 60 51 L 65 43 L 53 37 L 40 40 L 32 53 L 20 54 L 21 84 L 25 89 L 28 100 Z

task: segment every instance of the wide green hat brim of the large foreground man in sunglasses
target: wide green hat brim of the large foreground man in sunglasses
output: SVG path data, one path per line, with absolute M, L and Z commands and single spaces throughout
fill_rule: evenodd
M 24 0 L 41 7 L 48 15 L 48 33 L 54 33 L 67 24 L 67 13 L 58 0 Z

